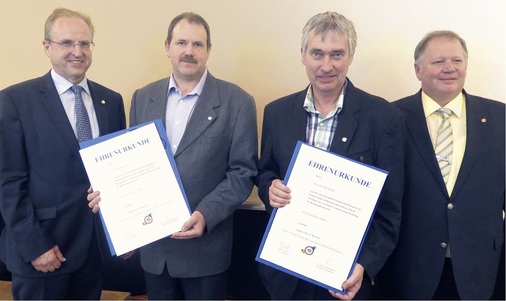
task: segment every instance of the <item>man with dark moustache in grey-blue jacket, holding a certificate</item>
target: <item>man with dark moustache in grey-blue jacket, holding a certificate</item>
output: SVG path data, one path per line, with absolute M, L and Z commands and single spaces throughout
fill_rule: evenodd
M 253 97 L 206 68 L 207 22 L 183 13 L 165 41 L 173 73 L 135 91 L 130 126 L 162 119 L 192 210 L 173 234 L 141 248 L 149 299 L 221 299 L 232 251 L 232 214 L 253 188 L 258 136 Z M 89 195 L 96 211 L 97 192 Z

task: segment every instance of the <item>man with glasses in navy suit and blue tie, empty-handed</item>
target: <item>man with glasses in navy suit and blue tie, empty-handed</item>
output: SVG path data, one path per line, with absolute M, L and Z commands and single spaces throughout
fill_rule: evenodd
M 69 88 L 81 87 L 92 137 L 124 129 L 125 112 L 121 95 L 86 78 L 93 33 L 88 16 L 55 9 L 43 41 L 51 71 L 0 92 L 0 256 L 15 299 L 100 298 L 97 229 Z

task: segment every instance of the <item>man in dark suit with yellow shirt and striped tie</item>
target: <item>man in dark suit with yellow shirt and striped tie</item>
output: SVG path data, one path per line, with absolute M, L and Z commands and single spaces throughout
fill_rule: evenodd
M 407 125 L 402 226 L 378 285 L 387 299 L 489 299 L 504 244 L 505 105 L 464 90 L 468 52 L 456 33 L 430 32 L 414 58 L 421 90 L 395 102 Z

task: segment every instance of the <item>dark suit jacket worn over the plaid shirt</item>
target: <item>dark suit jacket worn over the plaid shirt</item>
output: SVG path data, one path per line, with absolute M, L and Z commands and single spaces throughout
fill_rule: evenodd
M 271 182 L 285 178 L 297 141 L 306 141 L 308 113 L 303 108 L 306 93 L 307 88 L 265 107 L 255 182 L 268 212 L 272 210 L 268 196 Z M 375 277 L 397 242 L 403 187 L 403 137 L 401 112 L 386 100 L 356 88 L 348 80 L 330 151 L 389 171 L 358 259 L 370 278 Z M 289 282 L 284 281 L 279 286 L 293 290 L 295 278 Z

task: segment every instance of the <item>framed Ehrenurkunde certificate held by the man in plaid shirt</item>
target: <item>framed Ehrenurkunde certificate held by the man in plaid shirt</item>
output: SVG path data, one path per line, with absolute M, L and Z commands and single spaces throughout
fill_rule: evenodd
M 387 172 L 298 142 L 256 260 L 344 293 Z

